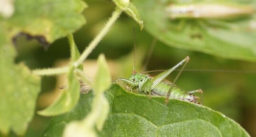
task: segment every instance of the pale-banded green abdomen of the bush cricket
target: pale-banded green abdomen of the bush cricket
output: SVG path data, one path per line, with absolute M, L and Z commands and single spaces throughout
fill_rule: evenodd
M 183 91 L 182 89 L 167 83 L 159 83 L 151 92 L 152 95 L 158 96 L 167 96 L 169 92 L 169 98 L 179 99 L 179 100 L 186 100 L 189 102 L 197 102 L 197 97 Z

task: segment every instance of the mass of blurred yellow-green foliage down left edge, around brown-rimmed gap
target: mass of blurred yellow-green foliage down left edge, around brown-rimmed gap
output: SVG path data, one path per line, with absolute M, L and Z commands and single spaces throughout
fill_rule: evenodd
M 0 131 L 23 135 L 34 115 L 40 78 L 26 65 L 14 64 L 17 37 L 34 37 L 44 46 L 65 37 L 85 24 L 80 13 L 86 4 L 81 0 L 15 0 L 12 6 L 13 14 L 0 16 Z

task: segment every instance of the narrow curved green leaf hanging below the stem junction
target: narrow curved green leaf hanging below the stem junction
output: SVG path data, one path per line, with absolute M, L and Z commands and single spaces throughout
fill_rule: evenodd
M 68 76 L 68 83 L 66 88 L 60 93 L 57 100 L 55 100 L 49 107 L 44 110 L 38 111 L 42 116 L 55 116 L 60 115 L 72 110 L 78 100 L 80 93 L 80 84 L 76 75 L 74 74 L 74 67 L 70 66 Z

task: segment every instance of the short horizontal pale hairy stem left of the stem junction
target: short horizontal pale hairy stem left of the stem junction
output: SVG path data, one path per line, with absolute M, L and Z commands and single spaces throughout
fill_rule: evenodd
M 60 67 L 60 68 L 49 68 L 49 69 L 37 69 L 33 70 L 32 73 L 37 75 L 58 75 L 62 73 L 67 73 L 69 71 L 69 67 Z

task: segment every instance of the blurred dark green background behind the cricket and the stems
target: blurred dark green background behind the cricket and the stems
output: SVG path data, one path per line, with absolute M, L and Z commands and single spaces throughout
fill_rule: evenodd
M 85 9 L 83 14 L 87 19 L 87 24 L 74 34 L 80 53 L 98 34 L 115 8 L 110 0 L 87 0 L 86 2 L 89 8 Z M 108 62 L 114 62 L 115 65 L 120 66 L 117 69 L 118 73 L 113 74 L 112 80 L 118 77 L 128 78 L 132 72 L 133 27 L 136 32 L 138 64 L 136 69 L 140 72 L 147 60 L 147 53 L 154 37 L 150 36 L 146 30 L 140 30 L 138 24 L 124 13 L 89 55 L 89 59 L 94 60 L 100 53 L 104 53 Z M 69 59 L 70 56 L 67 38 L 57 40 L 47 50 L 44 50 L 36 40 L 27 40 L 25 36 L 21 36 L 17 39 L 17 50 L 19 55 L 16 62 L 22 61 L 30 69 L 53 67 L 59 60 Z M 252 137 L 256 137 L 256 63 L 177 49 L 158 41 L 149 59 L 147 70 L 168 69 L 187 55 L 190 56 L 190 61 L 185 69 L 225 70 L 225 72 L 184 71 L 177 80 L 177 86 L 185 91 L 202 89 L 205 106 L 234 119 Z M 114 67 L 110 66 L 110 68 Z M 87 69 L 86 64 L 84 69 Z M 229 72 L 233 70 L 239 73 Z M 158 73 L 150 74 L 157 75 Z M 176 75 L 177 71 L 171 73 L 167 80 L 174 80 Z M 41 94 L 54 90 L 56 83 L 56 77 L 43 77 Z M 37 110 L 41 109 L 43 109 L 41 105 L 38 105 Z M 49 120 L 50 118 L 35 115 L 25 137 L 43 136 Z M 15 137 L 15 135 L 11 134 L 10 137 Z

